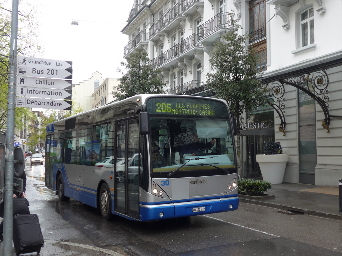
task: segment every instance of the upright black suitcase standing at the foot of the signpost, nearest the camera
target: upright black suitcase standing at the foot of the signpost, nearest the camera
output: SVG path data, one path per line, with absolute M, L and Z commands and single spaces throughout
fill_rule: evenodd
M 17 256 L 40 252 L 44 239 L 37 214 L 17 214 L 13 217 L 13 244 Z

